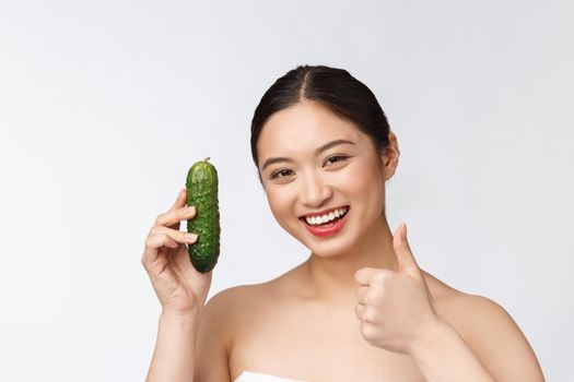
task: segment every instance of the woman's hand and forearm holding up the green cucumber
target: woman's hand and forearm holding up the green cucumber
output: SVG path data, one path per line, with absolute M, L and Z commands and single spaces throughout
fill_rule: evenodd
M 194 381 L 199 318 L 211 286 L 212 272 L 201 274 L 189 260 L 187 244 L 197 235 L 180 231 L 180 222 L 194 218 L 186 190 L 155 219 L 141 262 L 162 305 L 157 339 L 147 381 Z

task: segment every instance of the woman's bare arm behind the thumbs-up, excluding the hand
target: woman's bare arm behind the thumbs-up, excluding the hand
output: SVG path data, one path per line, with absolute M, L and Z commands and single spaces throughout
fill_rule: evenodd
M 442 320 L 425 332 L 411 357 L 426 381 L 543 382 L 536 355 L 511 315 L 480 296 L 460 297 L 466 312 L 455 327 Z

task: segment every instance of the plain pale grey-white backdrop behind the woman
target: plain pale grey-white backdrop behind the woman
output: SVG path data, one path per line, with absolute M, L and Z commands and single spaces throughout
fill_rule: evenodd
M 419 265 L 499 302 L 547 379 L 574 380 L 572 20 L 571 1 L 2 1 L 0 380 L 144 379 L 144 239 L 207 156 L 209 297 L 308 256 L 249 147 L 263 92 L 303 63 L 377 96 L 401 150 L 387 216 Z

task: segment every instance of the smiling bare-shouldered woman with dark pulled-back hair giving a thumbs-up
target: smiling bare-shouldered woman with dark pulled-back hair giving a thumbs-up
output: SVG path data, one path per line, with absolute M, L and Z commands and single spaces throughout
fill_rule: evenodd
M 142 256 L 163 307 L 148 381 L 543 381 L 502 307 L 421 270 L 405 224 L 391 232 L 398 141 L 363 83 L 289 71 L 255 110 L 251 153 L 273 216 L 311 254 L 204 305 L 211 273 L 189 262 L 181 192 Z

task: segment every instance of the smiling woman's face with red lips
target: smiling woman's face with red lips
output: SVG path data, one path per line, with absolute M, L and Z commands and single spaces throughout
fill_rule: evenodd
M 393 133 L 389 139 L 396 147 Z M 329 145 L 333 141 L 341 143 Z M 273 216 L 314 254 L 345 253 L 356 249 L 365 235 L 377 235 L 375 228 L 384 219 L 385 181 L 397 163 L 378 156 L 370 136 L 354 123 L 321 104 L 300 103 L 267 120 L 257 148 Z M 318 236 L 307 227 L 305 217 L 341 207 L 349 211 L 340 219 L 342 228 L 341 222 L 335 225 L 340 229 L 336 234 Z

